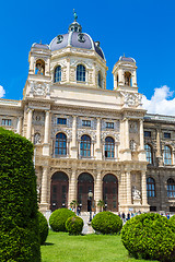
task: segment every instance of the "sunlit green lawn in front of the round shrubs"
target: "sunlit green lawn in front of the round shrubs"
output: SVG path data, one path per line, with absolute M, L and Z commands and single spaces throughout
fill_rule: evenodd
M 49 231 L 42 246 L 42 262 L 149 262 L 128 257 L 120 236 L 69 236 L 67 233 Z M 155 262 L 155 261 L 154 261 Z

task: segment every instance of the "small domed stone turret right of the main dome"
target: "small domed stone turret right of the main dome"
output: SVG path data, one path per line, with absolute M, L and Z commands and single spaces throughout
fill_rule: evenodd
M 136 60 L 130 57 L 119 58 L 114 66 L 114 90 L 138 92 Z

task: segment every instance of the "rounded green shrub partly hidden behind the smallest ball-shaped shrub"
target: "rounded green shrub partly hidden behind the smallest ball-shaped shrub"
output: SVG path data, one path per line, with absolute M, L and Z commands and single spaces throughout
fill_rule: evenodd
M 74 212 L 68 209 L 56 210 L 50 215 L 49 225 L 54 231 L 67 231 L 66 221 L 74 215 Z

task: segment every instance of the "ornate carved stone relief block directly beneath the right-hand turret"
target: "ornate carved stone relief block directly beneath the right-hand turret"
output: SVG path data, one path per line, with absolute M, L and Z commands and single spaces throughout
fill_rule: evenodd
M 120 92 L 124 96 L 124 106 L 125 107 L 137 107 L 141 105 L 142 95 L 139 93 L 131 92 Z

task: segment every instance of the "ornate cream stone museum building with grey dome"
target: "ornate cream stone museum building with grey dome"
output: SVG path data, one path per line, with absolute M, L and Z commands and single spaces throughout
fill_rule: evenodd
M 42 212 L 175 211 L 175 117 L 147 115 L 133 58 L 120 57 L 106 88 L 100 41 L 74 22 L 33 44 L 22 100 L 0 99 L 0 126 L 34 143 Z

